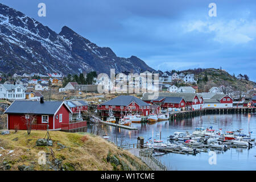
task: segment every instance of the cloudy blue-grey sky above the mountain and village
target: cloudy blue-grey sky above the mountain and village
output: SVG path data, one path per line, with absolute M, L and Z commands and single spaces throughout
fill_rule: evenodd
M 46 4 L 46 17 L 38 4 Z M 0 0 L 59 33 L 68 26 L 162 71 L 220 68 L 256 81 L 255 0 Z M 216 3 L 217 16 L 208 7 Z

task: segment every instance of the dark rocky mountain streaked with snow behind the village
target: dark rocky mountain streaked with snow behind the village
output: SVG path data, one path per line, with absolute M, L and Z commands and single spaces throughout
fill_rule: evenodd
M 80 73 L 153 71 L 138 57 L 117 57 L 64 26 L 59 34 L 0 3 L 0 71 L 5 73 Z

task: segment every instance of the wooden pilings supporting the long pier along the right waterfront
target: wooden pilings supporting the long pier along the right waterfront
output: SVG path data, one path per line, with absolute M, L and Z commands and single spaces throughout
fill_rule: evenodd
M 187 110 L 180 111 L 177 113 L 170 114 L 170 119 L 184 119 L 184 118 L 193 118 L 201 115 L 207 114 L 245 114 L 245 113 L 255 113 L 255 107 L 238 107 L 238 108 L 207 108 L 199 110 Z

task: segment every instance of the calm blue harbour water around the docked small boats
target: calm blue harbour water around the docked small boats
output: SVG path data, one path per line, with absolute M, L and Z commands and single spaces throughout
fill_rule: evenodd
M 112 142 L 120 144 L 137 143 L 137 137 L 144 137 L 145 142 L 156 138 L 161 133 L 162 140 L 167 142 L 168 137 L 175 131 L 189 131 L 195 127 L 210 127 L 213 129 L 237 130 L 243 129 L 244 133 L 253 131 L 251 136 L 256 138 L 256 114 L 224 114 L 204 115 L 183 119 L 180 121 L 161 121 L 151 124 L 133 123 L 138 130 L 115 129 L 113 126 L 102 126 L 109 134 Z M 89 127 L 88 127 L 89 129 Z M 226 152 L 217 152 L 217 164 L 210 165 L 208 153 L 201 152 L 196 156 L 181 154 L 166 154 L 157 157 L 166 166 L 173 170 L 255 170 L 256 146 L 250 150 L 246 148 L 232 148 Z

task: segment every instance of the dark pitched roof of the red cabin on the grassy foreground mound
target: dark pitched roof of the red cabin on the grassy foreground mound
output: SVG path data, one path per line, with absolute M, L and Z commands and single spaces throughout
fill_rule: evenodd
M 47 114 L 54 115 L 64 102 L 60 101 L 14 101 L 5 111 L 7 114 Z

